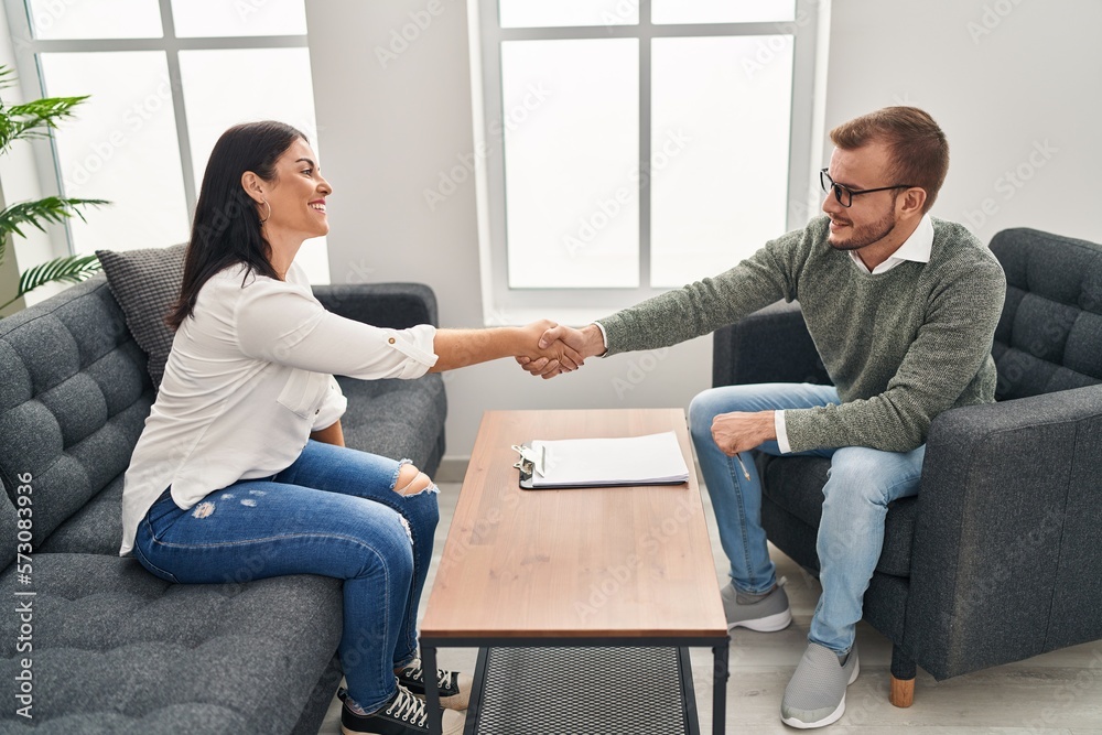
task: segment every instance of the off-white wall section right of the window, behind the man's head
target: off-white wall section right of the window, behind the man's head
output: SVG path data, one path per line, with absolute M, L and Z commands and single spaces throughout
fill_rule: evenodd
M 984 241 L 1007 227 L 1102 241 L 1102 2 L 835 0 L 832 13 L 828 127 L 917 105 L 949 138 L 934 216 Z

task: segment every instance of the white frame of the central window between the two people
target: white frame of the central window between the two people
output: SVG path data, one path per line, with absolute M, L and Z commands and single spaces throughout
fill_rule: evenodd
M 662 37 L 790 34 L 793 43 L 791 136 L 788 166 L 787 229 L 803 226 L 814 212 L 818 182 L 812 185 L 822 158 L 821 89 L 817 65 L 825 66 L 817 46 L 821 24 L 829 19 L 829 0 L 796 0 L 793 21 L 656 25 L 649 0 L 638 4 L 638 25 L 503 29 L 497 0 L 474 0 L 471 6 L 471 63 L 474 87 L 478 229 L 482 257 L 483 312 L 487 324 L 525 322 L 554 313 L 563 322 L 583 322 L 608 314 L 668 291 L 650 287 L 650 43 Z M 639 287 L 577 289 L 510 289 L 505 205 L 505 122 L 501 101 L 501 43 L 566 39 L 639 40 Z M 817 125 L 819 122 L 819 125 Z M 781 233 L 777 233 L 781 235 Z M 764 245 L 764 242 L 763 242 Z M 734 266 L 735 263 L 732 263 Z

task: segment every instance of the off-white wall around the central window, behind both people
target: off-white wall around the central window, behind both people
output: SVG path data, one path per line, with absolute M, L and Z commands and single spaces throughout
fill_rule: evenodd
M 483 315 L 474 185 L 435 212 L 422 197 L 474 149 L 466 13 L 461 0 L 307 0 L 322 164 L 336 188 L 332 280 L 429 283 L 444 326 Z M 403 26 L 415 36 L 404 48 Z M 1088 132 L 1102 112 L 1100 26 L 1096 0 L 836 0 L 827 125 L 926 107 L 952 147 L 936 215 L 971 217 L 982 239 L 1019 225 L 1102 239 L 1088 206 L 1102 179 Z M 1015 187 L 1005 172 L 1019 166 L 1029 177 Z M 469 454 L 487 409 L 687 407 L 710 380 L 709 337 L 552 381 L 505 361 L 468 368 L 449 377 L 447 456 Z

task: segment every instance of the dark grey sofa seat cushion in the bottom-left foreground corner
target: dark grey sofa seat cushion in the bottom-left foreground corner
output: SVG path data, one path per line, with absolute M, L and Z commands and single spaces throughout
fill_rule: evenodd
M 34 558 L 34 581 L 35 733 L 285 732 L 341 638 L 334 579 L 176 585 L 131 558 L 53 553 Z M 4 681 L 18 673 L 18 625 L 0 616 Z

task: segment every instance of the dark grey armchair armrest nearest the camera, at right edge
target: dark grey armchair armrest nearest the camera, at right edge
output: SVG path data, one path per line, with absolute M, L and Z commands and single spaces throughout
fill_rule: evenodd
M 904 646 L 938 679 L 1102 638 L 1102 386 L 930 426 Z

